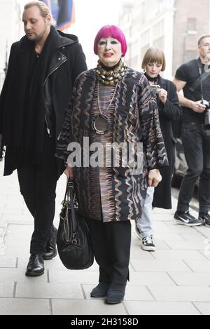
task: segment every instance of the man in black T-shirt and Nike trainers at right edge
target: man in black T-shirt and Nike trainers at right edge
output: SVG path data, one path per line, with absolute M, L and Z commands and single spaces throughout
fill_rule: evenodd
M 210 34 L 198 40 L 200 58 L 190 60 L 176 71 L 174 83 L 183 106 L 182 142 L 188 163 L 188 172 L 179 192 L 176 222 L 187 226 L 205 224 L 210 227 Z M 188 208 L 192 199 L 195 182 L 200 177 L 199 217 L 190 215 Z

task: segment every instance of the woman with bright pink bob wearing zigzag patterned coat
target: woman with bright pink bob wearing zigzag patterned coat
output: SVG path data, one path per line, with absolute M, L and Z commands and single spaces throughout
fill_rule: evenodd
M 71 157 L 72 142 L 85 153 L 79 166 L 69 160 L 65 173 L 74 177 L 78 213 L 87 220 L 99 264 L 99 284 L 90 295 L 106 297 L 108 304 L 123 301 L 129 279 L 130 221 L 141 216 L 147 186 L 158 185 L 158 168 L 167 165 L 155 98 L 144 74 L 123 62 L 126 51 L 119 27 L 99 30 L 94 40 L 97 68 L 78 76 L 57 143 L 57 156 L 64 161 Z M 143 152 L 137 149 L 125 156 L 127 146 L 134 145 L 135 151 L 140 143 Z M 111 147 L 115 159 L 113 153 L 104 152 Z M 98 166 L 93 159 L 99 159 Z

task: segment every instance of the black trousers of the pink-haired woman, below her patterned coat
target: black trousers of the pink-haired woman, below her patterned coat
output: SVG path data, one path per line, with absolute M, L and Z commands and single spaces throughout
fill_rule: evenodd
M 87 220 L 99 282 L 126 283 L 129 279 L 131 223 Z

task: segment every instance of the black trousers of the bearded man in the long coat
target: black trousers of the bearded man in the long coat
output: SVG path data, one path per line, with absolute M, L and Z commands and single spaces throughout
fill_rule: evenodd
M 45 253 L 45 244 L 50 236 L 51 227 L 53 230 L 55 190 L 58 179 L 54 154 L 55 140 L 45 134 L 42 164 L 40 166 L 23 164 L 18 167 L 20 192 L 34 217 L 30 253 L 40 255 Z

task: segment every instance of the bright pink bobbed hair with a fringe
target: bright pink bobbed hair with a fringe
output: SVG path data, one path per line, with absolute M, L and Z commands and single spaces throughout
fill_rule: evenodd
M 122 29 L 120 27 L 117 27 L 116 25 L 105 25 L 101 29 L 99 29 L 99 32 L 97 33 L 97 36 L 94 39 L 94 53 L 98 55 L 98 43 L 103 38 L 113 38 L 117 39 L 121 43 L 122 48 L 122 57 L 125 56 L 127 52 L 127 42 L 125 39 L 125 34 L 123 33 Z

